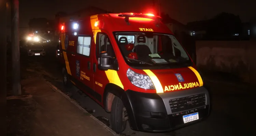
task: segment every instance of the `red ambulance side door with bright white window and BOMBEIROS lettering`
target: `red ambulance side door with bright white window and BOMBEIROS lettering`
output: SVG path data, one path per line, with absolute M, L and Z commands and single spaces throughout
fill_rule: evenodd
M 88 92 L 94 96 L 93 92 L 93 68 L 91 57 L 91 43 L 93 38 L 90 35 L 77 36 L 77 50 L 76 50 L 76 72 L 75 77 L 78 80 L 77 86 L 81 90 Z

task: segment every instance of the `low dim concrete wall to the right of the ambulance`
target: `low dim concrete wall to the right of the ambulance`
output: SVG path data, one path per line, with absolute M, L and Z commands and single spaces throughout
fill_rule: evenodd
M 197 66 L 256 83 L 255 41 L 196 41 Z

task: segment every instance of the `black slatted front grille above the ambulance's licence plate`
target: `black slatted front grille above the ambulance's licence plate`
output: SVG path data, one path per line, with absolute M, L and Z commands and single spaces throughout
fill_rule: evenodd
M 204 106 L 206 104 L 205 94 L 172 99 L 169 101 L 172 113 L 186 111 Z

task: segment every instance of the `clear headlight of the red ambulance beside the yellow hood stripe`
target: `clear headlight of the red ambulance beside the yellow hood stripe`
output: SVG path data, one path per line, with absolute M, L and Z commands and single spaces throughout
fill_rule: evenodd
M 148 75 L 136 73 L 131 69 L 127 70 L 126 75 L 131 83 L 137 87 L 143 89 L 155 89 L 155 86 Z

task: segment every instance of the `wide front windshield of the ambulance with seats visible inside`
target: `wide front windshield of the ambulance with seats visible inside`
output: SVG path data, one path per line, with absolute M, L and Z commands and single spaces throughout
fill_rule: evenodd
M 127 64 L 191 64 L 191 60 L 174 35 L 157 33 L 115 33 Z

